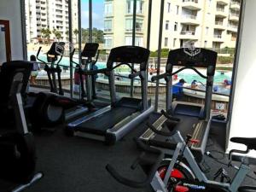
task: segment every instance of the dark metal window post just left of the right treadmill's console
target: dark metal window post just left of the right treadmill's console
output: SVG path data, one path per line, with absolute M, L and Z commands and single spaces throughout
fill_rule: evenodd
M 160 74 L 160 61 L 161 61 L 161 47 L 162 47 L 162 33 L 163 33 L 163 20 L 164 20 L 164 5 L 165 0 L 161 0 L 160 5 L 160 27 L 159 27 L 159 38 L 158 38 L 158 55 L 157 55 L 157 75 Z M 155 101 L 154 110 L 158 109 L 158 99 L 159 99 L 159 79 L 156 81 L 155 87 Z

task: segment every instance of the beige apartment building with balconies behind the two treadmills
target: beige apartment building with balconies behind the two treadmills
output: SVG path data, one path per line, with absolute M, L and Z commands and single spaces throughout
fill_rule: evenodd
M 131 44 L 133 0 L 105 0 L 104 47 Z M 236 46 L 239 0 L 166 0 L 162 48 Z M 135 44 L 146 47 L 148 0 L 137 0 Z M 150 49 L 158 49 L 160 1 L 153 0 Z

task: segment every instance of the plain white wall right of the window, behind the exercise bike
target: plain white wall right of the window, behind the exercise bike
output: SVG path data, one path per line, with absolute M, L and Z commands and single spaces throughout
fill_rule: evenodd
M 245 2 L 230 137 L 256 137 L 256 1 L 245 0 Z M 232 148 L 245 147 L 229 143 L 228 150 Z M 251 153 L 249 156 L 256 158 L 256 153 Z

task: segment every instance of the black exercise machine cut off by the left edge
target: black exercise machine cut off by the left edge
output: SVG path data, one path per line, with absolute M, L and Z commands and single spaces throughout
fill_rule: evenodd
M 35 174 L 36 148 L 33 136 L 27 130 L 21 95 L 25 94 L 26 85 L 32 71 L 32 63 L 9 61 L 3 63 L 0 73 L 0 111 L 15 119 L 14 125 L 4 126 L 0 135 L 0 177 L 21 184 L 13 191 L 18 192 L 43 177 Z M 9 112 L 9 113 L 7 113 Z M 3 117 L 3 120 L 5 118 Z

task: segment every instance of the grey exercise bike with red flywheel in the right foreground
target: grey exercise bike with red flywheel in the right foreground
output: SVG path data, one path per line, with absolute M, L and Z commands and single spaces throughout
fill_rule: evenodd
M 175 128 L 168 129 L 170 132 L 159 131 L 154 125 L 148 124 L 148 127 L 154 131 L 154 133 L 166 137 L 166 142 L 174 139 L 177 142 L 177 147 L 172 156 L 172 159 L 163 159 L 163 153 L 156 148 L 148 147 L 144 143 L 137 141 L 137 145 L 143 149 L 143 154 L 135 161 L 131 166 L 134 169 L 137 165 L 142 166 L 143 171 L 148 175 L 146 179 L 141 182 L 134 181 L 125 178 L 117 172 L 113 166 L 107 165 L 108 172 L 119 183 L 123 183 L 127 186 L 134 188 L 143 188 L 148 185 L 151 189 L 158 192 L 187 192 L 187 191 L 214 191 L 214 192 L 255 192 L 256 187 L 253 186 L 241 186 L 242 181 L 247 177 L 247 173 L 250 168 L 245 164 L 244 160 L 241 160 L 241 165 L 236 172 L 236 176 L 228 181 L 224 182 L 227 178 L 223 169 L 220 169 L 217 176 L 221 177 L 221 181 L 209 180 L 206 175 L 201 171 L 201 167 L 196 163 L 194 155 L 191 153 L 189 146 L 192 143 L 198 141 L 191 139 L 187 136 L 184 140 L 180 132 Z M 247 154 L 250 150 L 256 149 L 256 138 L 241 138 L 232 137 L 230 139 L 234 143 L 242 143 L 247 146 L 246 151 L 231 150 L 229 154 L 230 166 L 236 167 L 231 163 L 231 156 L 233 153 Z M 154 158 L 152 155 L 154 154 Z M 150 160 L 148 156 L 151 155 Z M 154 163 L 153 163 L 154 162 Z M 146 166 L 145 166 L 146 165 Z

